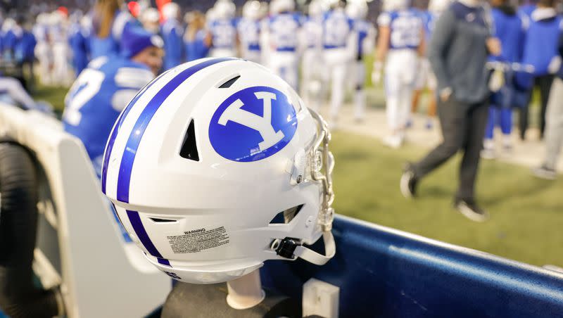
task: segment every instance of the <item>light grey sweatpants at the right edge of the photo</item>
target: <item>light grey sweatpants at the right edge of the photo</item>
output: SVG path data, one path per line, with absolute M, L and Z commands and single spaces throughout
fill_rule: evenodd
M 563 146 L 563 79 L 559 77 L 555 77 L 551 86 L 545 124 L 545 165 L 555 169 Z

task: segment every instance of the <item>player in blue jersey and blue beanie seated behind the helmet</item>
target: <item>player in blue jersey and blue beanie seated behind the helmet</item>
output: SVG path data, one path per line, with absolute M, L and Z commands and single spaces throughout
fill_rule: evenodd
M 91 61 L 65 98 L 65 131 L 82 141 L 97 174 L 113 123 L 162 67 L 163 40 L 158 35 L 141 27 L 128 28 L 123 35 L 120 54 Z

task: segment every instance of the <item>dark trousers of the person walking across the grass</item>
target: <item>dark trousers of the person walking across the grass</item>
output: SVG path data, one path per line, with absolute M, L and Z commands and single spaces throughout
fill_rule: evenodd
M 457 151 L 462 150 L 460 165 L 460 188 L 456 198 L 473 200 L 474 185 L 483 148 L 483 136 L 488 117 L 488 101 L 468 104 L 456 101 L 438 101 L 438 117 L 442 127 L 443 141 L 419 163 L 413 165 L 417 179 L 440 167 Z

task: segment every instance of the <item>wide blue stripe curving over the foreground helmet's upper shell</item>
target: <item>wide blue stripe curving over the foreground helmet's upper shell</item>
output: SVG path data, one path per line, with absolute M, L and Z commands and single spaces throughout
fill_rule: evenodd
M 141 139 L 143 138 L 143 134 L 146 130 L 146 127 L 148 126 L 148 123 L 151 122 L 156 111 L 158 110 L 158 108 L 160 108 L 165 99 L 170 94 L 172 94 L 172 91 L 177 89 L 180 84 L 185 82 L 186 79 L 191 77 L 191 75 L 194 75 L 196 72 L 203 70 L 210 65 L 233 60 L 236 60 L 236 58 L 214 58 L 194 65 L 191 68 L 186 68 L 186 70 L 183 70 L 178 75 L 176 75 L 176 77 L 171 79 L 170 82 L 167 82 L 165 86 L 156 93 L 151 101 L 148 102 L 144 110 L 141 112 L 141 115 L 137 119 L 137 122 L 135 122 L 132 132 L 129 135 L 129 139 L 127 140 L 127 145 L 125 146 L 125 150 L 123 152 L 118 175 L 118 201 L 129 203 L 129 183 L 131 181 L 131 171 L 135 160 L 135 155 L 137 154 L 137 149 L 139 148 L 139 144 L 141 143 Z

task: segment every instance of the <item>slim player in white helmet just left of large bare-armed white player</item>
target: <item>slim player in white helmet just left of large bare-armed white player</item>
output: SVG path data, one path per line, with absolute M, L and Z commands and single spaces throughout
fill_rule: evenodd
M 365 20 L 367 4 L 365 0 L 350 1 L 346 6 L 346 13 L 354 20 L 354 31 L 358 37 L 355 58 L 351 63 L 350 74 L 355 78 L 354 87 L 354 117 L 357 122 L 364 120 L 365 112 L 365 56 L 373 53 L 375 46 L 375 28 Z

